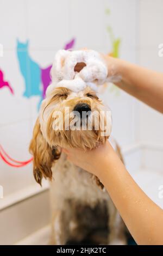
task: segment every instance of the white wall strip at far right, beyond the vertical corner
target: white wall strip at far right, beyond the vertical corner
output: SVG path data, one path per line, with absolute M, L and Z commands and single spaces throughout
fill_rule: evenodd
M 163 72 L 163 57 L 158 56 L 159 44 L 163 42 L 163 2 L 161 0 L 140 0 L 140 65 Z M 148 81 L 148 77 L 147 77 Z M 141 103 L 140 139 L 163 144 L 162 114 Z

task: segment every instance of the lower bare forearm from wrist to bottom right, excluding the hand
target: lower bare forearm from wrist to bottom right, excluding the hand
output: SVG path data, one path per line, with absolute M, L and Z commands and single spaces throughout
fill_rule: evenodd
M 111 147 L 111 146 L 109 146 Z M 163 244 L 163 211 L 141 190 L 112 152 L 97 174 L 139 245 Z

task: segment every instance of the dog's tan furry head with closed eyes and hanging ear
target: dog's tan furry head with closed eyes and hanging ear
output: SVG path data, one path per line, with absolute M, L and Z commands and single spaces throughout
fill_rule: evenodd
M 62 147 L 96 148 L 108 139 L 110 130 L 110 111 L 90 86 L 79 92 L 52 87 L 42 101 L 30 143 L 36 181 L 41 184 L 43 176 L 52 178 L 52 162 Z

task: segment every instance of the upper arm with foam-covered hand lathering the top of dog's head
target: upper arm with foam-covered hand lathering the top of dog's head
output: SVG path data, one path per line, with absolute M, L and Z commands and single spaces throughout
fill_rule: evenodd
M 62 54 L 59 53 L 57 57 L 57 62 L 65 72 L 61 72 L 62 79 L 67 77 L 67 72 L 70 80 L 77 75 L 76 72 L 85 82 L 103 84 L 109 79 L 130 95 L 163 113 L 163 73 L 87 49 Z M 58 70 L 52 69 L 52 77 L 54 75 L 56 78 L 56 74 L 60 77 L 60 70 L 58 73 Z

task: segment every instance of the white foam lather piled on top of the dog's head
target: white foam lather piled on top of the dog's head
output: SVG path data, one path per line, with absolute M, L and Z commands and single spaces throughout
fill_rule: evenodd
M 84 63 L 80 72 L 74 70 L 78 63 Z M 106 81 L 108 70 L 100 54 L 92 50 L 66 51 L 59 50 L 55 55 L 51 70 L 52 84 L 48 91 L 54 87 L 66 87 L 73 92 L 79 92 L 86 86 L 97 90 L 97 84 Z M 92 81 L 96 80 L 96 83 Z

